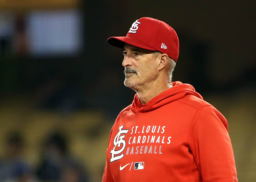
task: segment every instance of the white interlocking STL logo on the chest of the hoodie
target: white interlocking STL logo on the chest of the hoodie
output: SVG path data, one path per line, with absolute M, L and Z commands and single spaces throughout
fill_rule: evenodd
M 124 125 L 119 127 L 119 132 L 116 134 L 115 138 L 114 138 L 114 148 L 110 151 L 110 153 L 112 154 L 112 157 L 110 159 L 110 162 L 122 159 L 124 157 L 124 153 L 122 153 L 124 151 L 125 148 L 125 134 L 127 134 L 127 132 L 129 131 L 129 129 L 123 129 Z M 124 135 L 122 135 L 124 134 Z M 122 144 L 122 146 L 121 146 Z M 121 154 L 122 153 L 122 154 Z

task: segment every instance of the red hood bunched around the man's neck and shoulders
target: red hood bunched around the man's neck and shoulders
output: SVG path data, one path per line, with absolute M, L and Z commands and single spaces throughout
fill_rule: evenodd
M 132 111 L 146 112 L 149 110 L 154 110 L 158 107 L 166 105 L 167 103 L 182 99 L 188 94 L 203 99 L 203 97 L 199 93 L 197 93 L 194 87 L 190 84 L 173 82 L 172 85 L 173 86 L 170 89 L 158 94 L 156 97 L 148 101 L 145 105 L 142 105 L 138 93 L 135 94 L 134 100 L 132 102 Z

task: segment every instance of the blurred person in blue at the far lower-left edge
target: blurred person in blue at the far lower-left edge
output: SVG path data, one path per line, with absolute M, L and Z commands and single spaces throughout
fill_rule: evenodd
M 0 181 L 29 182 L 33 181 L 31 170 L 22 158 L 24 147 L 23 138 L 18 132 L 11 132 L 7 136 L 5 157 L 0 160 Z

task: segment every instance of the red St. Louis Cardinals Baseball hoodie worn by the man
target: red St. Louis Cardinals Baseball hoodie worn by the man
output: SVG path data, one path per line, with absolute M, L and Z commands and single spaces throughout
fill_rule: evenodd
M 118 115 L 111 129 L 103 182 L 238 181 L 227 120 L 195 92 L 173 87 Z

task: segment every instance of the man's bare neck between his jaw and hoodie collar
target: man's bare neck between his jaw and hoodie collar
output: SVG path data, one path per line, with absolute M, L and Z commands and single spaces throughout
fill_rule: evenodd
M 158 83 L 158 84 L 157 84 Z M 170 88 L 170 84 L 168 83 L 159 83 L 159 82 L 153 82 L 148 83 L 146 85 L 143 85 L 142 88 L 135 90 L 140 98 L 140 101 L 142 105 L 145 105 L 149 100 L 156 97 L 159 93 L 162 93 L 163 91 Z

